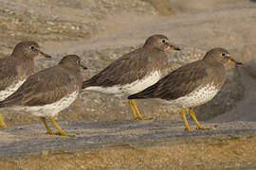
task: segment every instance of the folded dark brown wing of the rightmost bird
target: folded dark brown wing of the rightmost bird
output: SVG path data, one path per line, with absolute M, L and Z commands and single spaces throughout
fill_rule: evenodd
M 180 67 L 168 76 L 163 77 L 153 86 L 132 94 L 128 99 L 161 98 L 174 100 L 196 89 L 207 78 L 210 68 L 200 63 L 201 60 Z M 200 67 L 198 67 L 200 65 Z

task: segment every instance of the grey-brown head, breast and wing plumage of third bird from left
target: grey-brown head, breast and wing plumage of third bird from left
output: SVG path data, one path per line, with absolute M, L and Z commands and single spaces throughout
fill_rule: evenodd
M 170 46 L 180 50 L 169 43 L 166 36 L 153 35 L 141 48 L 114 60 L 99 74 L 83 81 L 82 89 L 90 86 L 111 87 L 130 84 L 156 70 L 161 71 L 167 66 L 165 51 Z

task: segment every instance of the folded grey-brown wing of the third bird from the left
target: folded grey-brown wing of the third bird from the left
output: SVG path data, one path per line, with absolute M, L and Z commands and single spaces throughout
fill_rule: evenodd
M 144 77 L 147 73 L 147 65 L 143 64 L 146 61 L 143 58 L 145 55 L 147 55 L 145 52 L 138 49 L 113 61 L 99 74 L 83 81 L 82 89 L 89 86 L 107 87 L 128 84 Z

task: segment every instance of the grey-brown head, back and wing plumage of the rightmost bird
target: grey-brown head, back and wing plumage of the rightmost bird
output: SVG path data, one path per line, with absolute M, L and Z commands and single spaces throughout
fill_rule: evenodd
M 209 84 L 216 91 L 219 91 L 226 80 L 229 60 L 235 61 L 229 57 L 229 52 L 226 49 L 213 48 L 206 54 L 204 59 L 178 68 L 168 76 L 160 79 L 153 86 L 140 93 L 130 95 L 128 99 L 158 98 L 172 101 Z M 241 64 L 240 62 L 235 62 Z M 207 94 L 206 92 L 205 95 Z M 188 106 L 195 107 L 190 106 L 189 103 Z

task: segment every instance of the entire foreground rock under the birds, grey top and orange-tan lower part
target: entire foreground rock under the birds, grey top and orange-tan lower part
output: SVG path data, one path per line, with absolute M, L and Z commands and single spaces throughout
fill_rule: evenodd
M 191 127 L 195 126 L 189 122 Z M 59 122 L 66 138 L 42 123 L 0 131 L 0 167 L 9 169 L 254 169 L 255 122 L 186 132 L 182 121 Z M 53 128 L 52 128 L 53 129 Z

